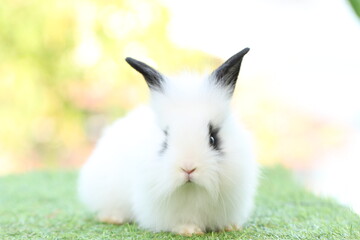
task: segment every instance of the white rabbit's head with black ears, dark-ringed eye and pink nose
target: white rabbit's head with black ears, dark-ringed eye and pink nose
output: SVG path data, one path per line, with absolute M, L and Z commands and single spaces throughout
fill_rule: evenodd
M 219 194 L 223 161 L 231 151 L 229 102 L 248 51 L 237 53 L 210 75 L 200 77 L 201 81 L 192 74 L 168 78 L 145 63 L 126 58 L 150 88 L 159 128 L 158 155 L 144 173 L 156 194 L 169 195 L 189 186 L 213 197 Z

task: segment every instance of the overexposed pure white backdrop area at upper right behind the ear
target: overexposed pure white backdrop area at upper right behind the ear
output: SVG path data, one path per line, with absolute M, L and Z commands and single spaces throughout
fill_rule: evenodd
M 251 51 L 243 81 L 300 111 L 348 129 L 346 144 L 327 152 L 299 178 L 360 213 L 360 19 L 343 0 L 163 0 L 169 34 L 186 48 L 222 59 Z

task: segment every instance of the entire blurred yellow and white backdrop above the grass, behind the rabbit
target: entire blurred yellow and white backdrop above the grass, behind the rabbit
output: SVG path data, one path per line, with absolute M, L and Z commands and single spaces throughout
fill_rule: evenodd
M 259 162 L 360 212 L 358 0 L 5 0 L 0 175 L 78 168 L 148 99 L 124 58 L 206 73 L 250 47 L 234 109 Z

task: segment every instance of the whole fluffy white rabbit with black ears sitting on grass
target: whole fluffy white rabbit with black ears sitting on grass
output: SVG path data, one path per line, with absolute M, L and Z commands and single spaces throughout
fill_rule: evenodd
M 79 196 L 100 221 L 182 235 L 236 230 L 248 219 L 257 164 L 230 111 L 245 48 L 202 81 L 169 79 L 132 58 L 151 92 L 108 127 L 81 169 Z

